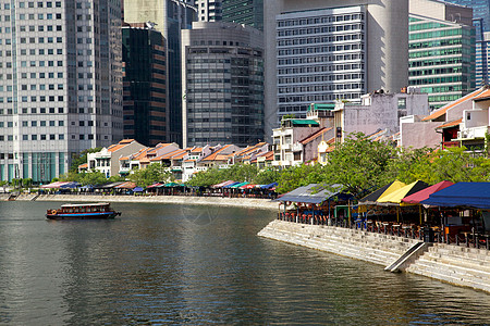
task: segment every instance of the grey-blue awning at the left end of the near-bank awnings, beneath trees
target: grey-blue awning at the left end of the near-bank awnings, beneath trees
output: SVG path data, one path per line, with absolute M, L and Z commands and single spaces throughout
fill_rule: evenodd
M 341 185 L 330 186 L 334 190 L 328 190 L 319 184 L 311 184 L 305 187 L 299 187 L 290 191 L 274 201 L 291 201 L 291 202 L 305 202 L 305 203 L 321 203 L 329 198 L 338 196 L 342 191 Z

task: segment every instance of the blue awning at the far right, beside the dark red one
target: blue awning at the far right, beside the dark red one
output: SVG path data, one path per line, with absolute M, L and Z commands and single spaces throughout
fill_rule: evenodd
M 457 183 L 429 196 L 421 204 L 490 210 L 490 183 Z

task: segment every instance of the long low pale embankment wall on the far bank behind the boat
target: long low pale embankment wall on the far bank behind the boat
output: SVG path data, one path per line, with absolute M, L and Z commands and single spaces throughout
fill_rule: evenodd
M 278 202 L 258 198 L 223 198 L 223 197 L 193 197 L 193 196 L 91 196 L 91 195 L 21 195 L 16 200 L 30 201 L 61 201 L 71 202 L 148 202 L 196 205 L 221 205 L 235 208 L 253 208 L 278 210 Z

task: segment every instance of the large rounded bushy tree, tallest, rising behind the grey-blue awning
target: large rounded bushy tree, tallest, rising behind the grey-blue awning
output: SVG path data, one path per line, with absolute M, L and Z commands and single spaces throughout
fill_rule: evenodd
M 394 155 L 391 145 L 371 141 L 362 133 L 351 134 L 329 154 L 326 184 L 341 184 L 345 191 L 362 197 L 392 180 L 389 163 Z

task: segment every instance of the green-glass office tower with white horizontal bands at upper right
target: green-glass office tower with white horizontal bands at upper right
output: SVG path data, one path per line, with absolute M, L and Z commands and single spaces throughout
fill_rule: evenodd
M 409 85 L 429 93 L 431 109 L 475 88 L 471 9 L 432 0 L 411 0 Z

